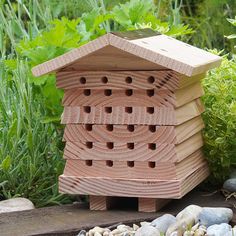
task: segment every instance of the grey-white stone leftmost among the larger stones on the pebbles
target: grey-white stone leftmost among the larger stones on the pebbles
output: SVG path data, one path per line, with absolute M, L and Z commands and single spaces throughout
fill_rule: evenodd
M 171 214 L 165 214 L 151 222 L 151 225 L 157 228 L 161 233 L 166 233 L 170 225 L 176 222 L 175 216 Z

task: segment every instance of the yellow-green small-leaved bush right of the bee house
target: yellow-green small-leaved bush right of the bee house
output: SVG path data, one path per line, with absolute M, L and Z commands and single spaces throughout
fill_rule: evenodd
M 221 67 L 203 81 L 206 107 L 204 139 L 206 157 L 218 181 L 236 166 L 236 60 L 223 58 Z

